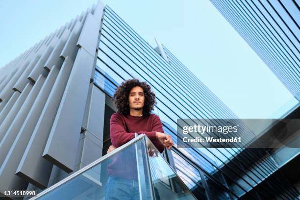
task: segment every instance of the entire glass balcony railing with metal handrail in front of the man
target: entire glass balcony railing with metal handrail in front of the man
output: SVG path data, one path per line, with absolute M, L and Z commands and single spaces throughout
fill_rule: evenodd
M 196 200 L 141 134 L 30 200 Z

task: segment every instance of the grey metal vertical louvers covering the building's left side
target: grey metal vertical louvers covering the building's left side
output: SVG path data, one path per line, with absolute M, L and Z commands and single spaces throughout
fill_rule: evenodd
M 0 68 L 0 188 L 48 187 L 75 170 L 104 5 L 88 8 Z

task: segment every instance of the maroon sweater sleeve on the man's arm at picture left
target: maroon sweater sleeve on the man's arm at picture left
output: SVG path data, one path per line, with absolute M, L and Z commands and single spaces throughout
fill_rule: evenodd
M 110 118 L 110 139 L 114 147 L 120 147 L 134 138 L 134 133 L 126 132 L 125 125 L 119 115 L 113 114 Z M 145 133 L 151 141 L 156 140 L 155 131 L 140 131 L 138 135 Z M 155 145 L 156 146 L 156 145 Z

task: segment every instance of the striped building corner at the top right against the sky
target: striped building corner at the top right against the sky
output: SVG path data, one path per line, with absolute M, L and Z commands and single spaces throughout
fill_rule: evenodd
M 211 0 L 292 95 L 300 100 L 297 0 Z

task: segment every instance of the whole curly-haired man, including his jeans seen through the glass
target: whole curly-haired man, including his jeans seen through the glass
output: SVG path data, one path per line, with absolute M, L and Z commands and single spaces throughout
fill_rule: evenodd
M 118 112 L 110 119 L 112 146 L 107 153 L 133 139 L 135 133 L 146 134 L 159 152 L 163 152 L 165 147 L 171 150 L 171 136 L 164 133 L 159 117 L 151 113 L 156 101 L 150 85 L 138 79 L 127 80 L 117 88 L 113 100 Z M 150 156 L 154 155 L 150 149 L 148 153 Z M 118 153 L 107 166 L 107 172 L 109 177 L 105 188 L 106 200 L 139 199 L 134 148 Z

